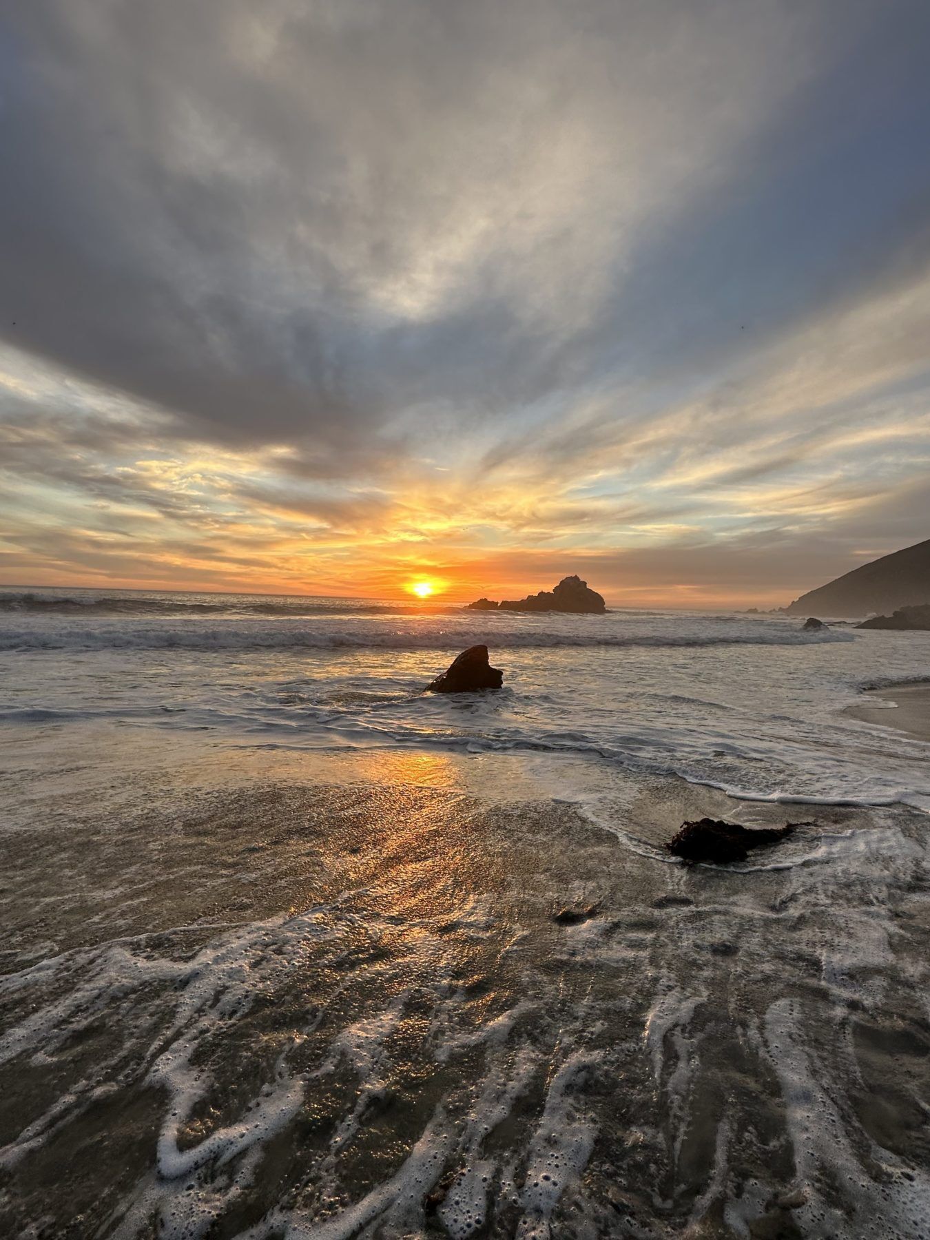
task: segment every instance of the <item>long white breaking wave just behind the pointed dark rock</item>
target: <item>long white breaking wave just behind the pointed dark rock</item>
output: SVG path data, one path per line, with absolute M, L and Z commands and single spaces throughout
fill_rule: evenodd
M 486 644 L 495 650 L 529 649 L 697 649 L 709 646 L 811 646 L 837 641 L 854 641 L 852 634 L 806 634 L 779 626 L 760 625 L 720 627 L 717 631 L 681 632 L 618 632 L 595 630 L 570 632 L 539 629 L 436 629 L 418 626 L 398 631 L 386 626 L 361 627 L 298 627 L 295 625 L 247 626 L 229 621 L 221 625 L 188 625 L 174 627 L 133 622 L 120 626 L 105 624 L 79 627 L 11 627 L 0 629 L 0 651 L 42 650 L 190 650 L 190 651 L 258 651 L 258 650 L 463 650 Z

